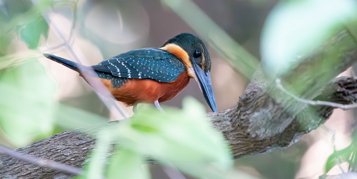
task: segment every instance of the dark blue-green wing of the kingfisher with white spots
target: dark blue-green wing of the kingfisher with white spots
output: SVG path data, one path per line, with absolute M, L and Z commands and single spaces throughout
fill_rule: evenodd
M 159 48 L 142 48 L 122 53 L 92 66 L 95 71 L 122 78 L 142 78 L 172 82 L 185 70 L 185 65 L 172 53 Z

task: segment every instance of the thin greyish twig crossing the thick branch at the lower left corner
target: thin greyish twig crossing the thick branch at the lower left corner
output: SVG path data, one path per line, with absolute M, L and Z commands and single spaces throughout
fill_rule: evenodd
M 17 158 L 24 162 L 29 162 L 29 163 L 35 164 L 39 167 L 50 168 L 52 170 L 56 170 L 58 172 L 61 172 L 61 173 L 67 174 L 67 175 L 81 175 L 83 173 L 83 170 L 80 168 L 73 167 L 73 166 L 66 165 L 66 164 L 61 164 L 61 163 L 54 162 L 54 161 L 36 159 L 34 157 L 30 157 L 30 156 L 15 152 L 13 149 L 6 147 L 5 145 L 2 145 L 2 144 L 0 144 L 0 150 L 4 154 L 9 155 L 14 158 Z

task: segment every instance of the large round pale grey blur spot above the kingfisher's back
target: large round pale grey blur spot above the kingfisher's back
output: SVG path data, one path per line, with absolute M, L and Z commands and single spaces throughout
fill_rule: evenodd
M 86 8 L 79 9 L 78 27 L 86 39 L 98 44 L 104 55 L 111 54 L 108 58 L 145 45 L 150 19 L 141 3 L 135 0 L 84 3 Z

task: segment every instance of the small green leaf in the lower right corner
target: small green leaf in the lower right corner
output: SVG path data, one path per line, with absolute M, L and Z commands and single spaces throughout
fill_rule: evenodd
M 337 150 L 337 151 L 333 152 L 330 155 L 330 157 L 328 157 L 328 159 L 326 161 L 325 173 L 330 171 L 337 164 L 347 162 L 347 161 L 349 162 L 352 151 L 353 151 L 352 146 L 353 146 L 353 143 L 342 150 Z

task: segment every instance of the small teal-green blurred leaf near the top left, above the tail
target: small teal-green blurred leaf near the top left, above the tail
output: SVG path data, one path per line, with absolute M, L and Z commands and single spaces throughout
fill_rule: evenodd
M 27 47 L 35 49 L 39 45 L 41 34 L 47 35 L 48 29 L 47 22 L 40 16 L 20 29 L 21 40 Z

